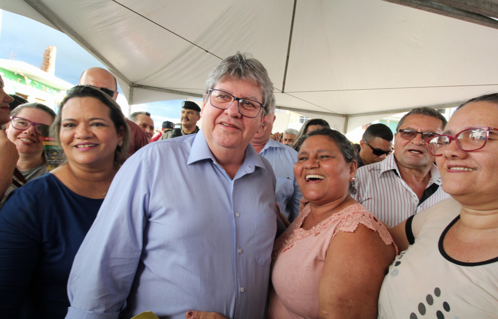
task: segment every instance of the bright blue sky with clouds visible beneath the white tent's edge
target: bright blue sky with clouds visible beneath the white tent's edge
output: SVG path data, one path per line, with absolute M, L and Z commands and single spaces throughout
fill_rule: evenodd
M 46 47 L 55 45 L 57 47 L 55 76 L 74 85 L 78 84 L 80 75 L 85 69 L 94 66 L 106 68 L 66 34 L 22 15 L 0 11 L 0 58 L 24 61 L 40 67 Z M 121 92 L 121 88 L 118 89 Z M 148 111 L 154 120 L 154 126 L 160 128 L 163 121 L 180 122 L 182 101 L 133 105 L 131 112 Z M 118 103 L 127 115 L 128 107 L 123 94 L 118 96 Z

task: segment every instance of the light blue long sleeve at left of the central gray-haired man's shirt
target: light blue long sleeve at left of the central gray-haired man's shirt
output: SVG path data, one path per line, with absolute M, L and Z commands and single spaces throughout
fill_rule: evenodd
M 143 153 L 126 160 L 80 246 L 68 280 L 66 318 L 117 319 L 142 251 L 150 194 Z

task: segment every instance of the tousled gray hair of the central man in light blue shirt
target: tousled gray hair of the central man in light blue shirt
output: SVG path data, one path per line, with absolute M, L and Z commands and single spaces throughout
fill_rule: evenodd
M 273 84 L 268 77 L 268 72 L 261 62 L 252 58 L 249 53 L 237 52 L 218 63 L 208 75 L 204 96 L 207 97 L 209 90 L 225 77 L 248 80 L 258 84 L 263 95 L 263 114 L 268 115 L 274 110 Z

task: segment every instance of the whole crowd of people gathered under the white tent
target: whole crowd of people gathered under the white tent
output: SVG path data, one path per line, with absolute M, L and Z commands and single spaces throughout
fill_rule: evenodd
M 358 148 L 323 119 L 272 134 L 247 54 L 179 128 L 117 96 L 90 68 L 57 115 L 10 109 L 0 78 L 0 318 L 498 318 L 498 94 L 373 124 Z

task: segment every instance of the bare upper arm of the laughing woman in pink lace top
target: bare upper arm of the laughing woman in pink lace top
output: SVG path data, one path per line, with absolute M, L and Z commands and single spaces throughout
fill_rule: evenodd
M 319 288 L 319 318 L 377 318 L 380 286 L 395 257 L 376 231 L 358 224 L 331 241 Z

